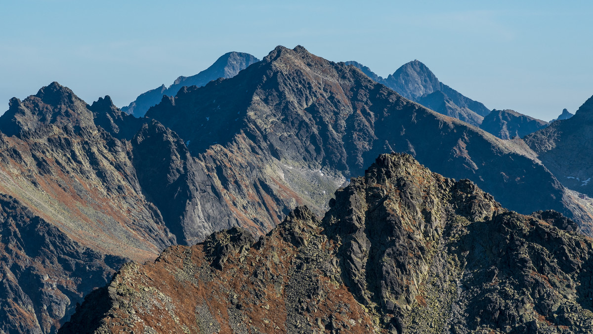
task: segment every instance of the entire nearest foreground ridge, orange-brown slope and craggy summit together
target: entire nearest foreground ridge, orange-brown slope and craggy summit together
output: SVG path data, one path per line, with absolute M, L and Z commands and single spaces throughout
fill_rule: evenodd
M 381 155 L 323 219 L 299 206 L 127 263 L 60 333 L 589 333 L 593 241 Z

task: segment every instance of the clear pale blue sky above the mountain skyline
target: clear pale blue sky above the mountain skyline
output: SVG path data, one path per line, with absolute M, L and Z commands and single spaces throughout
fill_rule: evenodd
M 69 1 L 0 4 L 0 112 L 52 81 L 122 107 L 225 52 L 301 44 L 381 76 L 419 59 L 489 109 L 549 120 L 593 95 L 593 2 Z

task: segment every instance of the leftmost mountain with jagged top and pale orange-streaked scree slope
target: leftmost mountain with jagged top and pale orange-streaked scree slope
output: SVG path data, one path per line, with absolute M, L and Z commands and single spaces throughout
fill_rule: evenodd
M 176 242 L 142 195 L 132 146 L 95 125 L 101 102 L 54 82 L 0 117 L 0 252 L 11 284 L 0 330 L 55 332 L 124 258 L 153 259 Z

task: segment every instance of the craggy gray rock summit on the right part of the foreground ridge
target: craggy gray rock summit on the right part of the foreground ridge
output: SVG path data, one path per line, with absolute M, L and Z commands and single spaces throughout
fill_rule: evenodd
M 397 332 L 593 328 L 582 276 L 591 241 L 556 228 L 576 228 L 557 212 L 506 211 L 474 183 L 431 174 L 406 155 L 381 155 L 331 206 L 323 223 L 341 242 L 346 285 L 393 314 L 387 324 Z

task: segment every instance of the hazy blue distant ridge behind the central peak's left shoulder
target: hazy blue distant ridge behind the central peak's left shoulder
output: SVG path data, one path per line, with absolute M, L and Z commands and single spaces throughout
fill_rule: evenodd
M 150 107 L 158 104 L 163 96 L 176 96 L 181 87 L 197 86 L 202 87 L 212 80 L 218 78 L 232 78 L 237 73 L 252 63 L 259 62 L 259 59 L 248 53 L 229 52 L 222 55 L 209 68 L 191 77 L 178 77 L 168 88 L 165 85 L 142 93 L 129 106 L 123 107 L 122 111 L 142 117 Z

